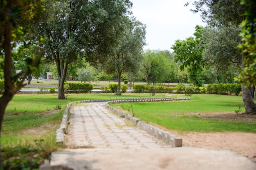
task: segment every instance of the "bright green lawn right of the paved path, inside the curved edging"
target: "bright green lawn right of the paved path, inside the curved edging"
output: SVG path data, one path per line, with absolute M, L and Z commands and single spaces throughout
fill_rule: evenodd
M 245 111 L 241 96 L 194 94 L 191 100 L 110 104 L 150 124 L 183 132 L 256 133 L 256 116 Z M 132 107 L 132 109 L 130 109 Z

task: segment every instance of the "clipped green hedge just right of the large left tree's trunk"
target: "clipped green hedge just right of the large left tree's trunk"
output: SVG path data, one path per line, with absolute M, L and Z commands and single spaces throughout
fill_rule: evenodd
M 65 92 L 67 93 L 88 93 L 93 89 L 93 85 L 91 83 L 70 83 L 65 82 Z

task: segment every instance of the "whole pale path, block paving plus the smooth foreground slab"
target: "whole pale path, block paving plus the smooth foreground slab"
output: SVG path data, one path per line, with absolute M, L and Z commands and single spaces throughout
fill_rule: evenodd
M 171 148 L 104 103 L 71 107 L 67 148 L 52 153 L 52 170 L 256 170 L 255 163 L 230 150 Z

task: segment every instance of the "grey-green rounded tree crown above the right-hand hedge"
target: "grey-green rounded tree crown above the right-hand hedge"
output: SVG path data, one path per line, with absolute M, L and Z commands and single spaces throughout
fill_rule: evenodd
M 241 71 L 241 52 L 236 48 L 240 43 L 240 32 L 240 26 L 234 25 L 206 28 L 202 32 L 202 57 L 216 73 L 225 75 L 231 68 L 234 72 Z

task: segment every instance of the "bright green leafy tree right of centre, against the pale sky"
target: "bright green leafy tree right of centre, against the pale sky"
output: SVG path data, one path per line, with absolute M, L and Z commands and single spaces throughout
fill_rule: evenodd
M 175 41 L 175 44 L 171 47 L 174 50 L 175 62 L 180 61 L 180 69 L 183 71 L 184 68 L 188 68 L 189 79 L 195 86 L 202 86 L 202 79 L 199 74 L 203 68 L 202 58 L 202 26 L 195 27 L 195 38 L 189 37 L 186 40 Z

